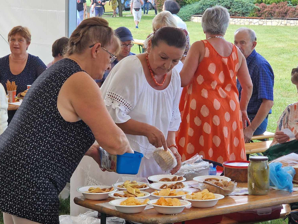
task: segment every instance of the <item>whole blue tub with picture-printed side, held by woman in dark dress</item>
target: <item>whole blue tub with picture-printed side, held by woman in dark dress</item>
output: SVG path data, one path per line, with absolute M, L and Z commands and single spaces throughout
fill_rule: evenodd
M 117 174 L 137 174 L 139 172 L 141 160 L 144 157 L 142 153 L 134 151 L 123 155 L 111 155 L 103 148 L 100 151 L 101 168 Z

